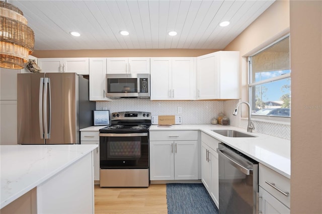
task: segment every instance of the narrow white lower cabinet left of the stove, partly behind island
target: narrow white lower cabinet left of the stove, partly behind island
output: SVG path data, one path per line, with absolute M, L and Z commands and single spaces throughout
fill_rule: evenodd
M 99 131 L 81 132 L 81 144 L 98 144 L 94 154 L 94 181 L 100 180 L 100 136 Z

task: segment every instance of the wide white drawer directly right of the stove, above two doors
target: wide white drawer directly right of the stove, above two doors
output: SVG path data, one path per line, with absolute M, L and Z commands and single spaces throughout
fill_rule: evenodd
M 152 131 L 150 141 L 198 140 L 198 131 Z

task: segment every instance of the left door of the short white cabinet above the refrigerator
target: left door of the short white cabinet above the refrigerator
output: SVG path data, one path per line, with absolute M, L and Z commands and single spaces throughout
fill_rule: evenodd
M 38 58 L 38 66 L 42 73 L 59 73 L 63 72 L 62 58 Z

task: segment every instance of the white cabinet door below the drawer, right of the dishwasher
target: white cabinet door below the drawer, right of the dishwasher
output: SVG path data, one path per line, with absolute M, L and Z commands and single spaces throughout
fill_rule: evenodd
M 290 209 L 273 197 L 262 187 L 259 187 L 260 196 L 262 196 L 262 203 L 260 203 L 259 209 L 263 214 L 287 214 L 290 213 Z

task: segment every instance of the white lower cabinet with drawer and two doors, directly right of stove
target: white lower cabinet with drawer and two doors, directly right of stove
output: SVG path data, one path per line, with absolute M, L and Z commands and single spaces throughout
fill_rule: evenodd
M 198 131 L 150 131 L 150 180 L 198 179 Z

